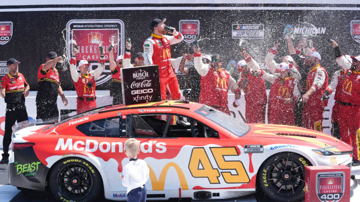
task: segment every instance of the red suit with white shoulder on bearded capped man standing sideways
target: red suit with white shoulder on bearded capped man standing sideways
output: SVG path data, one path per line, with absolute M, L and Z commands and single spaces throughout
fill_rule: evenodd
M 302 127 L 322 132 L 322 113 L 327 105 L 326 101 L 321 101 L 323 91 L 327 87 L 326 70 L 317 64 L 310 69 L 306 77 L 306 91 L 314 89 L 304 108 L 302 109 Z

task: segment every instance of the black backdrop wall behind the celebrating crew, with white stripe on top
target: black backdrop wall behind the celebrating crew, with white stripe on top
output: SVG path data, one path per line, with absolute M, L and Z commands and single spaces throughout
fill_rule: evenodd
M 334 61 L 333 48 L 327 42 L 328 38 L 338 41 L 344 54 L 358 55 L 360 43 L 356 42 L 351 35 L 351 20 L 360 20 L 358 5 L 246 5 L 248 9 L 238 9 L 235 4 L 192 4 L 173 5 L 167 8 L 166 4 L 155 5 L 153 10 L 149 6 L 137 4 L 134 9 L 131 5 L 101 5 L 103 10 L 94 9 L 94 5 L 81 5 L 78 10 L 66 11 L 75 5 L 52 5 L 37 6 L 40 9 L 33 9 L 33 6 L 2 6 L 6 11 L 0 12 L 0 21 L 11 21 L 13 23 L 12 37 L 4 45 L 0 45 L 0 61 L 6 61 L 14 57 L 21 61 L 19 72 L 23 73 L 31 90 L 37 88 L 37 70 L 45 61 L 45 55 L 53 50 L 59 55 L 65 53 L 65 41 L 62 30 L 66 28 L 69 20 L 73 19 L 120 19 L 124 23 L 124 38 L 130 37 L 132 42 L 132 58 L 134 53 L 142 51 L 142 42 L 150 35 L 148 24 L 152 18 L 166 17 L 165 24 L 179 29 L 179 20 L 199 20 L 199 46 L 204 53 L 219 53 L 226 66 L 230 60 L 241 60 L 239 55 L 240 47 L 245 47 L 247 52 L 253 56 L 258 63 L 264 63 L 264 57 L 271 45 L 280 41 L 277 57 L 288 54 L 286 42 L 283 39 L 283 31 L 286 25 L 293 27 L 316 27 L 322 28 L 323 33 L 305 35 L 313 40 L 316 50 L 321 54 L 320 64 L 328 71 L 329 76 L 339 69 Z M 78 6 L 78 5 L 76 5 Z M 99 5 L 96 5 L 98 7 Z M 123 10 L 121 7 L 123 6 Z M 141 9 L 143 6 L 144 9 Z M 176 8 L 176 6 L 178 8 Z M 194 10 L 193 6 L 198 9 Z M 205 7 L 206 6 L 206 7 Z M 221 7 L 225 7 L 222 9 Z M 243 6 L 243 5 L 241 5 Z M 254 9 L 253 6 L 258 6 Z M 271 8 L 273 6 L 273 9 Z M 283 9 L 278 7 L 283 6 Z M 301 6 L 301 7 L 297 7 Z M 340 7 L 339 7 L 340 6 Z M 47 11 L 47 7 L 54 8 Z M 63 8 L 65 7 L 65 8 Z M 68 8 L 67 8 L 68 7 Z M 9 11 L 10 8 L 10 11 Z M 26 8 L 26 9 L 24 9 Z M 45 9 L 46 8 L 46 9 Z M 146 8 L 146 9 L 145 9 Z M 13 11 L 11 11 L 13 9 Z M 55 10 L 56 9 L 56 10 Z M 82 10 L 89 9 L 89 10 Z M 1 23 L 1 22 L 0 22 Z M 260 39 L 233 39 L 232 24 L 263 24 L 264 37 Z M 301 38 L 301 34 L 294 35 L 294 45 Z M 187 43 L 181 42 L 171 46 L 172 57 L 181 55 L 182 48 Z M 120 44 L 123 46 L 123 44 Z M 276 57 L 276 58 L 277 58 Z M 65 68 L 64 68 L 65 66 Z M 74 90 L 71 77 L 66 65 L 60 65 L 60 80 L 63 90 Z M 108 69 L 108 67 L 106 67 Z M 109 89 L 110 80 L 97 89 Z

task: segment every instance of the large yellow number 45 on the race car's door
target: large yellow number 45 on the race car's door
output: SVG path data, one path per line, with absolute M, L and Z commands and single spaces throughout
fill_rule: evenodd
M 224 156 L 238 156 L 235 147 L 212 147 L 210 151 L 218 169 L 213 167 L 204 148 L 193 148 L 188 165 L 192 177 L 207 178 L 210 184 L 219 184 L 218 178 L 221 173 L 226 183 L 248 183 L 250 181 L 241 161 L 224 160 Z M 235 170 L 236 174 L 232 175 L 229 171 L 221 172 L 221 170 Z

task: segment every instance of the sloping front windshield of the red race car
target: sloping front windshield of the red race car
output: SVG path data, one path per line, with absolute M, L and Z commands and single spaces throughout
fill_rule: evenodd
M 202 107 L 195 111 L 197 114 L 200 114 L 207 119 L 217 123 L 223 128 L 227 129 L 231 133 L 241 137 L 250 131 L 250 126 L 241 123 L 239 120 L 232 118 L 231 116 L 217 111 L 211 107 L 206 105 L 202 105 Z

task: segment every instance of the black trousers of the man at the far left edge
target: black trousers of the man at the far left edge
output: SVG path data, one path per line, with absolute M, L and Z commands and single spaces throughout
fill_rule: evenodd
M 6 113 L 5 113 L 5 133 L 2 139 L 2 151 L 4 155 L 8 154 L 8 147 L 11 143 L 11 127 L 21 121 L 27 120 L 27 112 L 25 103 L 15 103 L 15 104 L 6 104 Z

